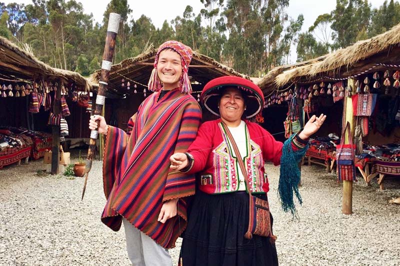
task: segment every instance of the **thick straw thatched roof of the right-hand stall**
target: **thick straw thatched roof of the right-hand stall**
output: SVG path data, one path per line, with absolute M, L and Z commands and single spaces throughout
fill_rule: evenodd
M 377 71 L 387 66 L 377 63 L 400 63 L 400 24 L 370 39 L 361 40 L 351 46 L 332 53 L 301 62 L 300 66 L 286 71 L 272 69 L 258 85 L 264 91 L 282 88 L 290 82 L 307 82 L 315 78 L 347 78 L 360 72 Z M 267 82 L 266 82 L 267 81 Z

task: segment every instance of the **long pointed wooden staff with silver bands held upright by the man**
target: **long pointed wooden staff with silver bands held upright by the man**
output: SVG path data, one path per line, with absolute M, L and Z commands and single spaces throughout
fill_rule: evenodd
M 115 39 L 116 39 L 116 34 L 118 33 L 118 27 L 119 27 L 120 20 L 121 20 L 121 16 L 119 14 L 109 13 L 107 36 L 105 38 L 103 60 L 101 63 L 101 76 L 100 76 L 100 80 L 98 81 L 99 85 L 98 85 L 98 91 L 97 91 L 97 96 L 96 96 L 96 107 L 94 109 L 95 115 L 101 114 L 101 110 L 105 103 L 104 94 L 105 94 L 106 87 L 107 87 L 109 71 L 111 69 L 112 55 L 114 54 Z M 97 121 L 97 127 L 98 126 L 99 126 L 99 121 Z M 89 143 L 89 150 L 87 151 L 87 158 L 86 158 L 82 200 L 83 200 L 83 196 L 84 196 L 84 191 L 86 189 L 87 176 L 91 169 L 91 162 L 92 162 L 93 156 L 94 156 L 94 150 L 96 147 L 97 136 L 98 136 L 97 130 L 90 131 L 90 143 Z

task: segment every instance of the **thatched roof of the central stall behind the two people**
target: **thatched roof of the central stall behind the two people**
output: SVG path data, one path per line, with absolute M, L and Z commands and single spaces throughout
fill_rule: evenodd
M 131 86 L 136 84 L 139 88 L 146 88 L 147 82 L 153 69 L 154 57 L 157 50 L 150 48 L 148 51 L 136 56 L 125 59 L 118 64 L 111 66 L 108 78 L 108 89 L 118 94 L 127 93 L 126 83 L 129 81 Z M 96 70 L 90 75 L 89 81 L 98 83 L 101 70 Z M 194 52 L 189 65 L 189 77 L 192 82 L 193 90 L 202 88 L 209 80 L 225 75 L 233 75 L 250 79 L 248 76 L 236 72 L 232 68 L 225 66 L 211 57 Z M 124 82 L 122 82 L 124 79 Z M 198 83 L 198 85 L 193 84 Z M 122 86 L 124 83 L 125 86 Z M 201 85 L 202 84 L 202 85 Z

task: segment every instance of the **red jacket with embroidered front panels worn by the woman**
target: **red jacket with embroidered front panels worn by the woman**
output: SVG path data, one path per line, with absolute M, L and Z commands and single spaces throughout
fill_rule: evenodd
M 188 153 L 194 161 L 188 173 L 199 172 L 196 178 L 198 188 L 208 194 L 234 192 L 238 189 L 237 171 L 240 171 L 236 158 L 227 145 L 227 136 L 220 126 L 220 119 L 203 123 Z M 247 167 L 248 183 L 252 193 L 266 193 L 269 190 L 268 179 L 264 171 L 264 162 L 280 164 L 282 143 L 256 123 L 245 121 L 247 155 L 244 163 Z M 243 156 L 243 155 L 242 155 Z

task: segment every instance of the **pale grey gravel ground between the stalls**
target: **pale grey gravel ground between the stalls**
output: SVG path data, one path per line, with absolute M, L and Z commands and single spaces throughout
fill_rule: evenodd
M 106 266 L 129 265 L 123 230 L 113 232 L 100 222 L 105 204 L 101 162 L 94 161 L 86 194 L 83 179 L 38 174 L 42 161 L 0 170 L 0 265 Z M 299 221 L 279 209 L 279 168 L 267 165 L 268 194 L 276 247 L 282 266 L 400 265 L 400 179 L 376 179 L 353 185 L 353 214 L 341 213 L 342 186 L 320 166 L 302 167 Z M 179 253 L 170 250 L 174 265 Z

